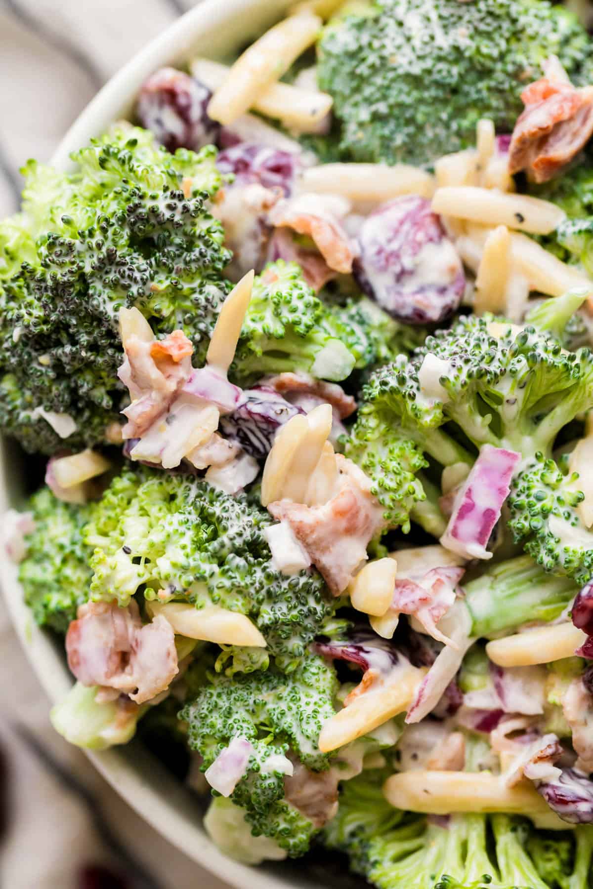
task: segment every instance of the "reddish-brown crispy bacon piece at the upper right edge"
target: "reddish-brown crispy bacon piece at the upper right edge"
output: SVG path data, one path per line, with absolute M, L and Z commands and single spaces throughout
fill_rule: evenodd
M 542 77 L 521 94 L 509 149 L 509 172 L 525 170 L 547 182 L 581 151 L 593 133 L 593 87 L 576 89 L 560 79 Z

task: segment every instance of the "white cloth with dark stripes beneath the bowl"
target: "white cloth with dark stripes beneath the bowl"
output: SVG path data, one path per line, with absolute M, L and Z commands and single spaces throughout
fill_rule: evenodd
M 192 5 L 193 0 L 0 0 L 0 217 L 17 209 L 18 170 L 27 158 L 47 160 L 100 85 Z M 28 749 L 17 734 L 19 724 L 91 789 L 111 828 L 159 889 L 224 889 L 148 828 L 84 755 L 53 733 L 48 709 L 0 609 L 0 745 L 8 759 L 8 786 L 0 770 L 0 796 L 9 798 L 8 825 L 0 837 L 3 889 L 83 889 L 83 864 L 118 867 L 89 811 Z M 129 889 L 136 889 L 133 874 L 128 880 Z

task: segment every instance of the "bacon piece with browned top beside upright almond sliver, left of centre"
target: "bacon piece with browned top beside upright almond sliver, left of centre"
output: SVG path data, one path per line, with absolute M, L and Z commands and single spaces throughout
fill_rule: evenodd
M 117 376 L 130 391 L 132 404 L 122 411 L 128 422 L 124 438 L 140 438 L 172 403 L 191 374 L 194 348 L 182 331 L 147 342 L 135 334 L 124 343 L 124 364 Z

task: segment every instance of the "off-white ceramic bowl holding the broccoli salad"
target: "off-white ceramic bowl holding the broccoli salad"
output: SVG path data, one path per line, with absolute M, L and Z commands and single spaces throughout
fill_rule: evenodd
M 111 78 L 69 129 L 52 163 L 68 168 L 71 151 L 105 131 L 117 118 L 129 114 L 140 84 L 156 68 L 180 65 L 195 55 L 212 59 L 231 55 L 278 20 L 290 2 L 204 0 Z M 9 506 L 21 505 L 30 484 L 30 472 L 19 449 L 12 442 L 4 441 L 0 453 L 0 515 Z M 28 660 L 50 699 L 58 701 L 72 685 L 63 651 L 36 627 L 23 604 L 16 566 L 4 561 L 1 567 L 6 605 Z M 196 799 L 139 744 L 132 741 L 127 747 L 89 752 L 88 756 L 112 787 L 152 827 L 230 885 L 241 889 L 254 883 L 259 889 L 321 889 L 322 885 L 328 885 L 328 877 L 320 877 L 323 882 L 319 882 L 311 869 L 298 864 L 292 867 L 290 862 L 255 871 L 230 861 L 204 833 Z

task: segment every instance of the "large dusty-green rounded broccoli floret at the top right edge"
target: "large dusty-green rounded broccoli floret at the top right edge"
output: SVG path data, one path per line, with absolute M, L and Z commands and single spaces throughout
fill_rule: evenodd
M 511 132 L 525 84 L 555 54 L 590 79 L 589 37 L 572 13 L 533 0 L 379 0 L 340 17 L 319 44 L 342 159 L 428 163 L 474 143 L 480 117 Z

